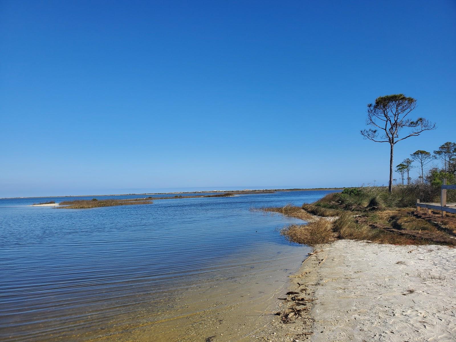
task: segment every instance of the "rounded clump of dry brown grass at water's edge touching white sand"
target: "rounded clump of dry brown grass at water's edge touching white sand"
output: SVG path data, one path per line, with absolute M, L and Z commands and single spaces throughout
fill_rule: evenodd
M 315 246 L 333 241 L 331 223 L 318 220 L 308 224 L 292 224 L 280 230 L 288 241 Z

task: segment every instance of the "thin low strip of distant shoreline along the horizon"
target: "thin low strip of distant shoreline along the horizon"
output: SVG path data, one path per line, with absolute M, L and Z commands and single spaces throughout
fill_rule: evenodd
M 108 194 L 108 195 L 65 195 L 65 196 L 27 196 L 27 197 L 1 197 L 0 199 L 16 199 L 16 198 L 56 198 L 56 197 L 90 197 L 90 196 L 130 196 L 130 195 L 175 195 L 175 194 L 192 194 L 192 193 L 211 193 L 211 192 L 233 192 L 233 193 L 273 193 L 273 192 L 284 192 L 284 191 L 318 191 L 318 190 L 343 190 L 345 187 L 317 187 L 317 188 L 306 188 L 306 189 L 244 189 L 244 190 L 210 190 L 210 191 L 187 191 L 187 192 L 143 192 L 143 193 L 126 193 L 126 194 Z

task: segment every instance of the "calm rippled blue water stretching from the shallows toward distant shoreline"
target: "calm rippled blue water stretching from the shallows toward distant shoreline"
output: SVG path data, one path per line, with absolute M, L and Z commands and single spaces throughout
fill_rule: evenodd
M 301 205 L 328 192 L 79 210 L 30 207 L 62 197 L 0 199 L 0 340 L 103 338 L 191 310 L 196 297 L 182 299 L 190 289 L 259 281 L 302 259 L 305 247 L 276 231 L 297 220 L 249 207 Z

